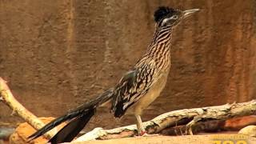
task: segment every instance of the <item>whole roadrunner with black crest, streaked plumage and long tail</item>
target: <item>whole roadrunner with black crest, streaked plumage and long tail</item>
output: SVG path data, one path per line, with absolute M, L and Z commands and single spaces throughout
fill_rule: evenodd
M 50 139 L 50 142 L 70 142 L 86 126 L 86 123 L 94 115 L 96 108 L 107 101 L 112 102 L 110 111 L 114 113 L 116 118 L 122 117 L 126 110 L 130 109 L 137 119 L 138 134 L 145 134 L 146 131 L 142 126 L 140 115 L 151 102 L 154 102 L 155 98 L 158 98 L 166 85 L 171 65 L 172 30 L 182 19 L 196 11 L 198 9 L 182 11 L 169 7 L 159 7 L 154 12 L 154 21 L 156 22 L 154 38 L 150 42 L 146 54 L 139 59 L 134 68 L 127 72 L 114 88 L 106 90 L 92 101 L 86 102 L 82 106 L 70 110 L 62 117 L 56 118 L 29 138 L 38 138 L 60 123 L 69 120 L 70 122 L 58 131 Z

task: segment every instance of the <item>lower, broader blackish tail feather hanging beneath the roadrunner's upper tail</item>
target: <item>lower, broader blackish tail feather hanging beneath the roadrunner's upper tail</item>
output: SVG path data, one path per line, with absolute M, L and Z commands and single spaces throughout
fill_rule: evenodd
M 95 114 L 95 108 L 90 109 L 86 114 L 82 114 L 78 118 L 71 120 L 66 126 L 59 130 L 53 138 L 50 139 L 51 144 L 57 144 L 61 142 L 71 142 L 78 133 L 86 126 L 86 123 L 90 121 L 90 118 Z

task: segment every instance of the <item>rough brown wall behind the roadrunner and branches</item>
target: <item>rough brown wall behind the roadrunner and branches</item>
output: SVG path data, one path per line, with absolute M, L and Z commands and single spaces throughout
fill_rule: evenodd
M 114 86 L 145 53 L 154 10 L 200 8 L 175 30 L 170 77 L 143 121 L 171 110 L 256 98 L 256 1 L 0 1 L 0 76 L 39 117 L 58 117 Z M 133 124 L 98 110 L 88 129 Z M 22 122 L 0 103 L 1 123 Z

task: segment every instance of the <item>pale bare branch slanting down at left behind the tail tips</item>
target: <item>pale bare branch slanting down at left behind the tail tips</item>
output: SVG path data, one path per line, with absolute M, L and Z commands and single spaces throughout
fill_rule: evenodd
M 45 126 L 39 118 L 32 114 L 29 110 L 26 110 L 22 106 L 14 95 L 11 93 L 9 87 L 6 85 L 6 82 L 0 77 L 0 98 L 2 102 L 6 103 L 7 106 L 13 110 L 14 114 L 18 114 L 19 117 L 23 118 L 30 126 L 33 126 L 34 129 L 39 130 L 42 126 Z M 50 131 L 45 134 L 46 138 L 52 138 L 54 136 L 54 131 Z

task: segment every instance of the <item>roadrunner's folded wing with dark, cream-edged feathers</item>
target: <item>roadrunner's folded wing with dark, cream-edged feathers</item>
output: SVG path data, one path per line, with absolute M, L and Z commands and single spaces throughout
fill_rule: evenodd
M 146 94 L 154 83 L 154 70 L 154 62 L 147 62 L 122 77 L 118 85 L 115 86 L 111 106 L 115 117 L 121 117 L 128 107 Z

